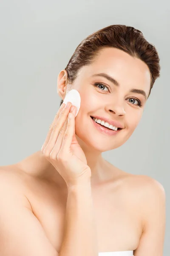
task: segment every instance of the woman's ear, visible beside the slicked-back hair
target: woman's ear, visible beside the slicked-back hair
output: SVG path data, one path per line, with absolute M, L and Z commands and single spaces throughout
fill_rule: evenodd
M 66 70 L 61 70 L 57 78 L 57 93 L 64 100 L 67 89 L 68 74 Z

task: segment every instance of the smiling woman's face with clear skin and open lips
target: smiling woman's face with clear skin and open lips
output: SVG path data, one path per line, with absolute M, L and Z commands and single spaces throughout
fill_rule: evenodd
M 99 73 L 111 76 L 119 86 L 105 77 L 94 76 Z M 82 67 L 71 89 L 78 90 L 81 96 L 80 110 L 75 118 L 77 136 L 88 146 L 104 152 L 124 144 L 138 125 L 146 99 L 130 90 L 143 90 L 148 96 L 150 71 L 138 58 L 116 48 L 104 48 L 93 64 Z M 104 134 L 96 129 L 91 116 L 117 121 L 123 129 L 115 135 Z

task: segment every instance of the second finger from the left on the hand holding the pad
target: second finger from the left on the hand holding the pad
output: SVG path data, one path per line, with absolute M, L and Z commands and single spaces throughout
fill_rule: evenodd
M 63 108 L 62 111 L 59 113 L 59 118 L 57 119 L 57 122 L 54 123 L 51 136 L 45 148 L 46 154 L 50 154 L 52 149 L 54 148 L 54 145 L 58 138 L 59 130 L 63 127 L 65 120 L 67 119 L 71 105 L 72 104 L 70 104 L 68 108 Z

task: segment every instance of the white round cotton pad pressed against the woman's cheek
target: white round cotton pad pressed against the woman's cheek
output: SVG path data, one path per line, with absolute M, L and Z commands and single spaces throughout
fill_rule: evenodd
M 66 105 L 67 102 L 71 102 L 72 105 L 76 106 L 76 108 L 77 108 L 76 116 L 77 116 L 79 109 L 80 109 L 80 104 L 81 104 L 81 97 L 80 97 L 78 90 L 72 89 L 66 94 L 63 103 L 65 103 L 65 105 Z

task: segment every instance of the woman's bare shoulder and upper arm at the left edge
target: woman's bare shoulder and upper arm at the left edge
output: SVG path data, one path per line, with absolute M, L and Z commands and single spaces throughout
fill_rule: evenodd
M 31 210 L 27 182 L 26 174 L 15 166 L 0 167 L 0 255 L 58 256 Z

